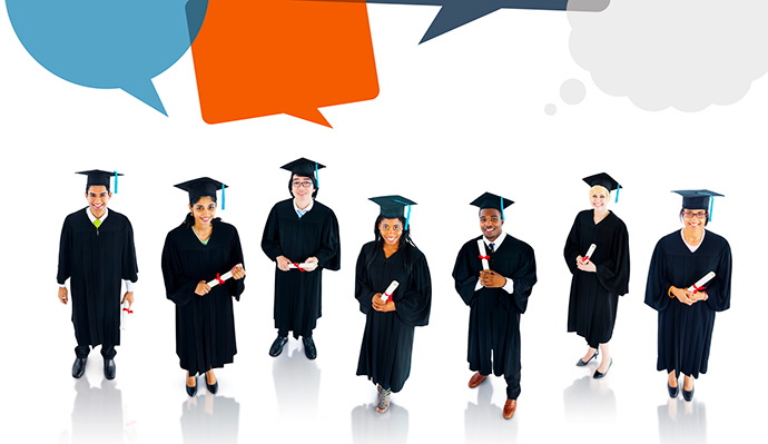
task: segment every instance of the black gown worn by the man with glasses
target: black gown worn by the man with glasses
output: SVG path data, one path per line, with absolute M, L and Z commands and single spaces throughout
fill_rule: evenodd
M 269 211 L 262 249 L 272 260 L 277 256 L 296 263 L 317 258 L 314 272 L 275 267 L 275 327 L 294 332 L 295 338 L 309 334 L 322 316 L 323 269 L 337 270 L 341 264 L 336 215 L 315 200 L 299 219 L 293 199 L 279 201 Z

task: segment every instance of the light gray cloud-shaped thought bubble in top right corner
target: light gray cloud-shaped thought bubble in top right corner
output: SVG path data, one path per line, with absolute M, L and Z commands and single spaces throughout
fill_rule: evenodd
M 611 0 L 568 18 L 573 60 L 649 111 L 735 103 L 768 71 L 766 0 Z

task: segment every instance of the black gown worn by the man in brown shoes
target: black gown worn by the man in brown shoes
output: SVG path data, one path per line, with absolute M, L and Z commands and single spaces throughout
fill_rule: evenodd
M 466 359 L 470 369 L 510 378 L 520 374 L 520 315 L 525 313 L 528 298 L 536 283 L 536 263 L 533 248 L 506 234 L 494 253 L 486 251 L 489 266 L 500 275 L 512 279 L 512 295 L 503 288 L 475 285 L 483 269 L 477 240 L 467 241 L 459 250 L 453 267 L 456 292 L 470 306 L 470 333 Z M 491 352 L 493 351 L 493 362 Z

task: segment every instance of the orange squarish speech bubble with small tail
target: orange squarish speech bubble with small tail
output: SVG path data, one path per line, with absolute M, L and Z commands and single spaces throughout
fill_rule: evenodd
M 378 96 L 365 3 L 210 0 L 191 49 L 207 124 L 286 114 L 331 127 L 317 108 Z

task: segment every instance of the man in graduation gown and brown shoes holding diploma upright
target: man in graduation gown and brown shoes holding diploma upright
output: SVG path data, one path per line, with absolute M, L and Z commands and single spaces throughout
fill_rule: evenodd
M 520 395 L 520 315 L 525 313 L 536 283 L 533 248 L 502 230 L 503 208 L 512 204 L 490 193 L 470 204 L 480 207 L 483 235 L 462 246 L 453 267 L 456 292 L 470 306 L 466 359 L 475 372 L 470 387 L 480 385 L 491 372 L 504 375 L 506 402 L 502 415 L 506 420 L 514 414 Z M 485 255 L 481 255 L 480 239 Z M 488 260 L 488 270 L 483 269 L 483 259 Z

